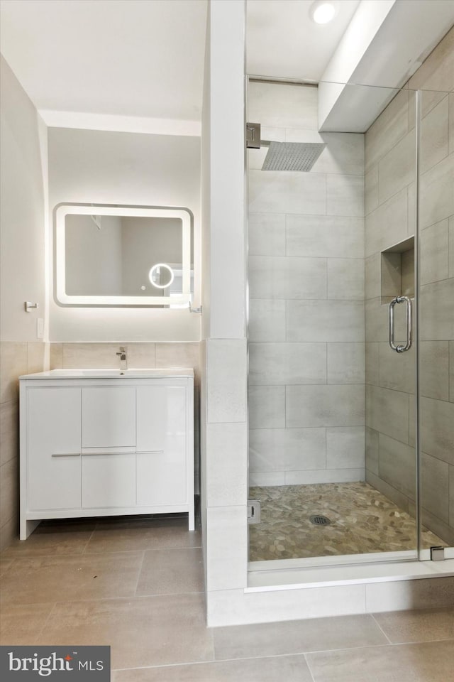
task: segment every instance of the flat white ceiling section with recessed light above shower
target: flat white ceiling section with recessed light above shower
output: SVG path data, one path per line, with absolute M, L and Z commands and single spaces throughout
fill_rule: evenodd
M 335 21 L 309 16 L 313 0 L 247 0 L 249 75 L 319 82 L 360 0 L 338 2 Z

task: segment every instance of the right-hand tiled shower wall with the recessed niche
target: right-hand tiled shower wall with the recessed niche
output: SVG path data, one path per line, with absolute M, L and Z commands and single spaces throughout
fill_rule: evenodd
M 423 523 L 453 544 L 454 30 L 365 136 L 366 480 L 414 514 L 415 353 L 389 348 L 380 252 L 414 234 L 413 89 L 431 87 L 446 92 L 421 96 L 421 496 Z

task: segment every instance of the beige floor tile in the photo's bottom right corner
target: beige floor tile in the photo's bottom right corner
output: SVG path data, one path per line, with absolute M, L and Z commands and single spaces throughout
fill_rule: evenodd
M 448 682 L 454 640 L 307 654 L 314 682 Z

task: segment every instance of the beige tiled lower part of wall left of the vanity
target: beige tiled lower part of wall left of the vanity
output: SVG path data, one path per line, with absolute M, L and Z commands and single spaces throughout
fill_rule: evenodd
M 40 341 L 0 343 L 0 551 L 18 534 L 18 377 L 45 369 L 46 346 Z

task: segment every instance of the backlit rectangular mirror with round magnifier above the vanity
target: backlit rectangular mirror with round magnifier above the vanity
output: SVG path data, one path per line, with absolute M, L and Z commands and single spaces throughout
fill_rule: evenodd
M 192 213 L 186 208 L 55 207 L 60 305 L 184 308 L 192 295 Z

